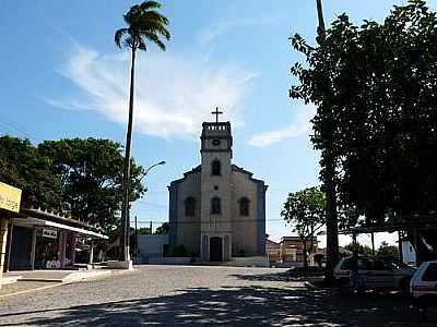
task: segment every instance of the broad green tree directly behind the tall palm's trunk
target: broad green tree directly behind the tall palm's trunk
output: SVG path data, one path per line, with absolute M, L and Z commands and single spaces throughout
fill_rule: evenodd
M 114 234 L 120 226 L 121 152 L 120 144 L 101 138 L 66 138 L 38 145 L 38 154 L 50 158 L 54 174 L 61 181 L 58 192 L 62 210 L 98 225 L 107 234 Z M 133 202 L 146 190 L 140 182 L 142 167 L 133 159 L 131 167 L 130 202 Z

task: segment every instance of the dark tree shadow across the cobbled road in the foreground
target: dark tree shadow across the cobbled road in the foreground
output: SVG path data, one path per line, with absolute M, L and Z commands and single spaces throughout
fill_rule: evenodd
M 436 320 L 434 320 L 436 323 Z M 0 326 L 422 326 L 399 296 L 324 289 L 194 288 L 174 295 L 0 315 Z M 432 322 L 428 325 L 435 326 Z

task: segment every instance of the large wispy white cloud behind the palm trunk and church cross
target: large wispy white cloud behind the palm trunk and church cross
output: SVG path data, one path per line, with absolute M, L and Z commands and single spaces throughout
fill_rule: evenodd
M 74 46 L 59 73 L 81 90 L 79 98 L 46 99 L 55 107 L 93 110 L 126 124 L 129 99 L 130 53 L 99 53 Z M 199 58 L 200 57 L 200 58 Z M 224 118 L 240 123 L 243 99 L 256 76 L 240 66 L 215 68 L 201 56 L 170 52 L 138 53 L 135 131 L 165 138 L 197 136 L 203 121 L 218 106 Z

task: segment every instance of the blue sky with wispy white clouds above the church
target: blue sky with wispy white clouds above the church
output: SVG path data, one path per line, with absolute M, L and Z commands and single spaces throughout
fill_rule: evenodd
M 381 21 L 405 2 L 324 0 L 323 7 L 327 24 L 343 12 L 359 24 Z M 134 3 L 0 0 L 0 134 L 34 144 L 64 137 L 123 144 L 130 57 L 116 48 L 114 33 Z M 291 234 L 280 216 L 287 193 L 320 183 L 309 140 L 316 109 L 288 98 L 290 68 L 303 61 L 288 37 L 299 33 L 315 43 L 315 1 L 162 3 L 172 40 L 165 52 L 151 46 L 138 56 L 132 155 L 144 167 L 167 164 L 147 174 L 149 192 L 132 217 L 140 227 L 168 220 L 167 185 L 200 164 L 201 123 L 220 107 L 233 125 L 234 164 L 269 185 L 267 232 L 273 240 Z

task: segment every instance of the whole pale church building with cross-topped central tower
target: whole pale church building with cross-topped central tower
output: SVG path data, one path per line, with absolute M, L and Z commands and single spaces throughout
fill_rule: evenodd
M 202 262 L 265 255 L 263 181 L 233 165 L 229 122 L 202 124 L 201 165 L 169 190 L 169 251 L 184 249 Z

